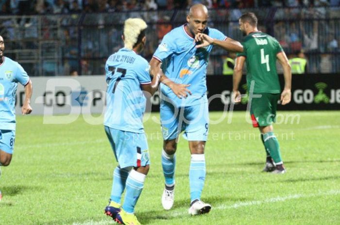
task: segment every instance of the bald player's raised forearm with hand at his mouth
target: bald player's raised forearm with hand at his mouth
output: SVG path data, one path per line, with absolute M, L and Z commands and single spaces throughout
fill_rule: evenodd
M 229 37 L 224 41 L 221 41 L 215 38 L 211 38 L 204 33 L 198 33 L 195 36 L 195 42 L 201 42 L 200 45 L 196 45 L 196 48 L 205 47 L 208 45 L 217 45 L 227 51 L 243 52 L 243 46 L 241 45 L 241 43 Z

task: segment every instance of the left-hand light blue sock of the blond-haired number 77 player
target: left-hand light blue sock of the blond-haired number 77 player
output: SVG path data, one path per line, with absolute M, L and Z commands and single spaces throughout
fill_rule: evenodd
M 124 192 L 125 182 L 127 177 L 129 176 L 129 171 L 130 170 L 128 168 L 121 169 L 119 166 L 117 166 L 113 171 L 111 201 L 120 204 L 121 195 Z

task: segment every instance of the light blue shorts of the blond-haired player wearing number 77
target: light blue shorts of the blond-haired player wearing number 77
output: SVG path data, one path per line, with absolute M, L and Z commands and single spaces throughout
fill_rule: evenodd
M 150 165 L 149 148 L 144 133 L 121 131 L 105 126 L 112 150 L 120 168 Z

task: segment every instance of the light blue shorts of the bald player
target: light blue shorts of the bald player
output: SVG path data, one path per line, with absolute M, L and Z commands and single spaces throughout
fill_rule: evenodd
M 209 128 L 208 103 L 176 108 L 161 101 L 160 118 L 164 140 L 176 139 L 184 131 L 188 141 L 206 141 Z

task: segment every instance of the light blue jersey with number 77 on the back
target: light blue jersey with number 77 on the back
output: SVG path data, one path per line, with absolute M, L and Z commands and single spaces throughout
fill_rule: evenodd
M 144 133 L 146 98 L 141 85 L 150 84 L 147 60 L 121 48 L 106 61 L 106 112 L 104 125 L 121 131 Z

